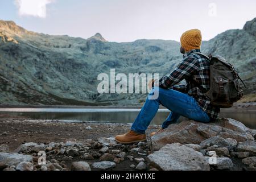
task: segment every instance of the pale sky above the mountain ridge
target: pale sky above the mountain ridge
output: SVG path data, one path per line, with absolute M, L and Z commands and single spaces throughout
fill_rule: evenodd
M 110 42 L 179 41 L 192 28 L 209 40 L 255 17 L 255 0 L 0 0 L 0 19 L 27 30 L 85 39 L 100 32 Z

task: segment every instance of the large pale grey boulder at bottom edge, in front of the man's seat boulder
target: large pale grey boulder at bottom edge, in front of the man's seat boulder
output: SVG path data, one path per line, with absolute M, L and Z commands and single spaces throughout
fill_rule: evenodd
M 209 171 L 209 162 L 201 152 L 179 143 L 167 144 L 147 156 L 151 165 L 163 171 Z

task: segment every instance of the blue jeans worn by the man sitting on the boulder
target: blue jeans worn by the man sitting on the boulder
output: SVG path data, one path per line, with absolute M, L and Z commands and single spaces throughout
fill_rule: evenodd
M 158 92 L 158 98 L 150 99 L 150 97 L 156 94 L 155 92 Z M 154 87 L 148 94 L 144 106 L 131 126 L 131 130 L 138 134 L 144 134 L 158 112 L 160 104 L 171 110 L 170 115 L 162 125 L 163 129 L 172 123 L 176 123 L 181 115 L 199 122 L 210 122 L 208 114 L 201 109 L 193 97 L 176 90 Z

